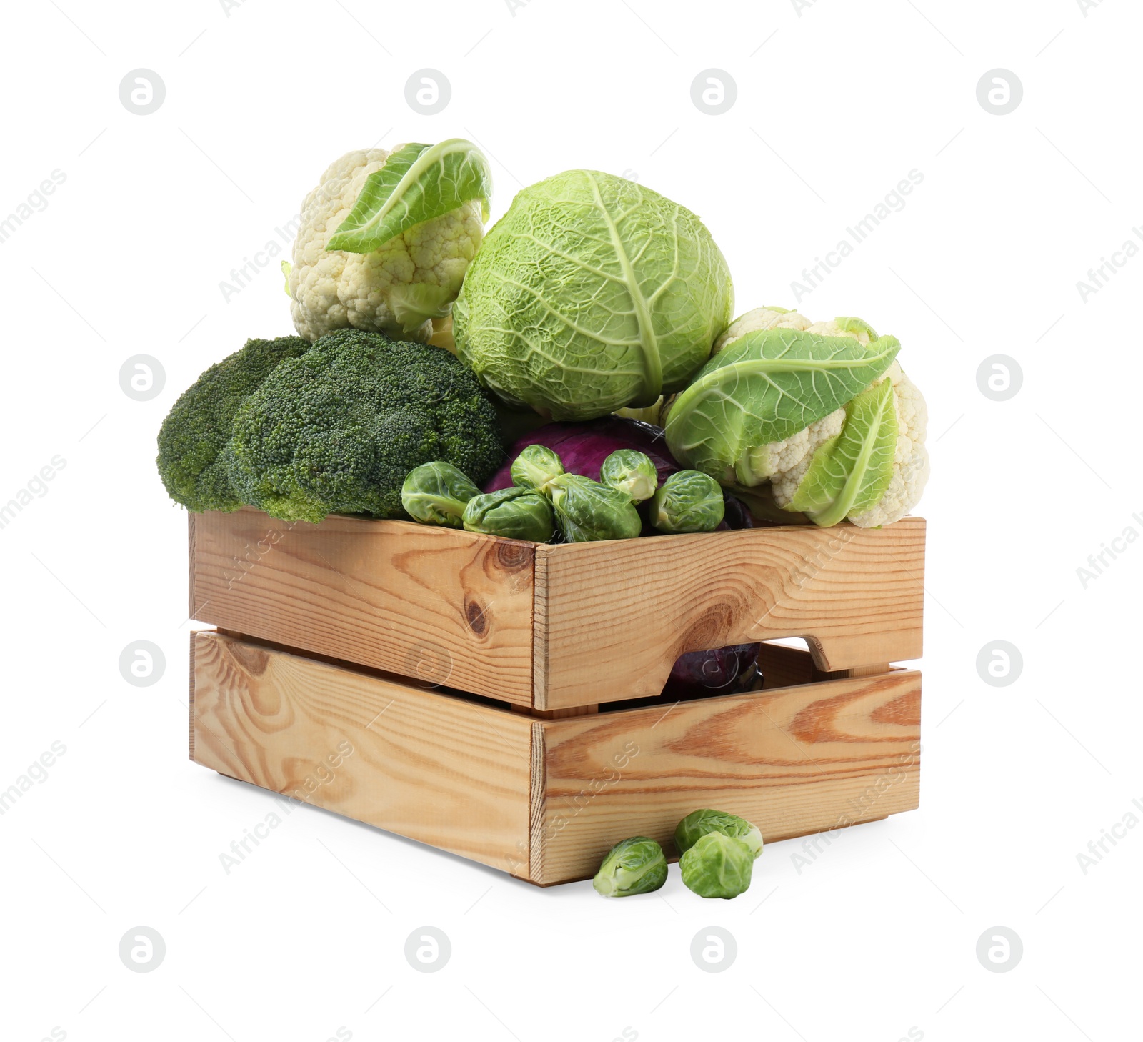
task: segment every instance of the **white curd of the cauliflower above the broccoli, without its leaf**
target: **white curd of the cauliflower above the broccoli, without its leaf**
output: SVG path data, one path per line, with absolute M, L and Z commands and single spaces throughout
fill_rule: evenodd
M 327 250 L 326 244 L 350 215 L 366 178 L 391 153 L 384 149 L 346 152 L 321 175 L 302 204 L 302 224 L 289 272 L 290 313 L 298 334 L 317 340 L 333 329 L 389 333 L 427 341 L 432 323 L 409 328 L 405 301 L 410 286 L 451 302 L 483 237 L 481 200 L 415 224 L 373 253 Z M 403 319 L 403 321 L 402 321 Z

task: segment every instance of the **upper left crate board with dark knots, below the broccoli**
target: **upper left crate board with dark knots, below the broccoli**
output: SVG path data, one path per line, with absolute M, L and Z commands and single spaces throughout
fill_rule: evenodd
M 408 522 L 191 515 L 191 618 L 531 705 L 534 546 Z

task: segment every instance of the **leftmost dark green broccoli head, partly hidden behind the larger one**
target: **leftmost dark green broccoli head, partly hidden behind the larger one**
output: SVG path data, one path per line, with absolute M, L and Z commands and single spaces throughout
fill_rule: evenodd
M 159 477 L 190 510 L 237 510 L 242 500 L 227 476 L 224 452 L 234 413 L 287 358 L 310 350 L 301 336 L 248 340 L 183 391 L 159 429 Z

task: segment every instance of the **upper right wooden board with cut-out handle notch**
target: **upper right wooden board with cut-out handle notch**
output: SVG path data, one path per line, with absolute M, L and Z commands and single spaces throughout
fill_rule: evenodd
M 925 520 L 536 548 L 535 706 L 658 694 L 688 651 L 805 637 L 821 670 L 920 658 Z

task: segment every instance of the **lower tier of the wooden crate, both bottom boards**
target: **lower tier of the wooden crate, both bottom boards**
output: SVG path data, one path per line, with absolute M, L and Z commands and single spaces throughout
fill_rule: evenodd
M 767 842 L 912 810 L 920 674 L 820 679 L 764 646 L 783 686 L 541 718 L 219 633 L 192 635 L 191 758 L 541 885 L 586 878 L 618 840 L 669 856 L 685 814 Z

